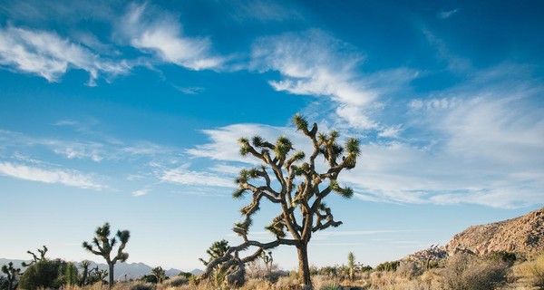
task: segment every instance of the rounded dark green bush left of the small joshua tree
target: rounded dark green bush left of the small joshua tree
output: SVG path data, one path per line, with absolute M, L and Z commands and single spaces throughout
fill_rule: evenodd
M 34 290 L 38 288 L 59 288 L 63 285 L 63 270 L 66 262 L 61 259 L 42 260 L 28 266 L 21 275 L 19 288 Z

